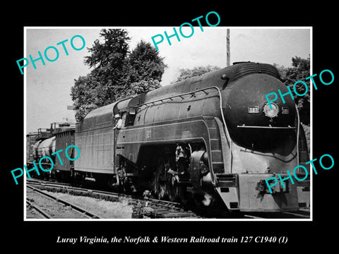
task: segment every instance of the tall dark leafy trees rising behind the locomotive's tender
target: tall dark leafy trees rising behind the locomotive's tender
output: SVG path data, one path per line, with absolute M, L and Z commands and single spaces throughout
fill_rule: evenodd
M 85 56 L 84 63 L 92 70 L 75 79 L 71 88 L 76 121 L 97 107 L 160 87 L 165 71 L 163 59 L 150 43 L 141 41 L 129 51 L 126 30 L 103 29 L 100 37 L 102 42 L 95 40 Z

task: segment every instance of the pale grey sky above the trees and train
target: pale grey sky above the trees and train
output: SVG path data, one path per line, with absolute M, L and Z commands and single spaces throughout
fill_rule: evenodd
M 109 27 L 117 28 L 117 27 Z M 153 44 L 151 37 L 164 31 L 173 34 L 173 27 L 119 27 L 129 32 L 131 40 L 129 49 L 132 50 L 140 40 Z M 88 47 L 93 46 L 95 40 L 100 40 L 102 28 L 25 28 L 25 58 L 37 59 L 40 51 L 44 57 L 47 47 L 55 47 L 59 52 L 57 57 L 54 49 L 47 50 L 49 59 L 35 61 L 24 68 L 25 79 L 25 126 L 26 133 L 37 131 L 38 128 L 49 128 L 50 123 L 75 121 L 74 111 L 67 109 L 73 104 L 71 87 L 74 79 L 90 73 L 90 68 L 83 63 L 88 56 Z M 179 28 L 176 28 L 179 30 Z M 157 44 L 159 54 L 164 58 L 167 68 L 162 75 L 160 85 L 169 85 L 179 76 L 181 68 L 197 66 L 226 66 L 226 27 L 194 27 L 194 33 L 189 38 L 179 34 L 180 42 L 176 37 L 170 38 L 169 45 L 166 38 Z M 191 28 L 184 27 L 184 35 L 191 33 Z M 85 47 L 75 50 L 71 47 L 71 38 L 81 35 L 85 40 Z M 155 40 L 158 40 L 157 37 Z M 66 55 L 62 44 L 64 42 L 69 55 Z M 79 37 L 73 40 L 75 48 L 81 48 L 83 42 Z M 299 56 L 306 59 L 311 54 L 311 28 L 230 28 L 230 62 L 254 61 L 260 63 L 277 63 L 280 66 L 290 67 L 292 57 Z M 21 63 L 23 64 L 23 63 Z M 20 70 L 18 68 L 18 74 Z

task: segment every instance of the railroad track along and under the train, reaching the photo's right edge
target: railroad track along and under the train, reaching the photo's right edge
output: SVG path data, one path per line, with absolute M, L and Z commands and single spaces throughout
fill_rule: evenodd
M 108 191 L 100 191 L 88 188 L 78 188 L 68 183 L 58 183 L 51 181 L 27 180 L 27 183 L 36 188 L 52 191 L 68 193 L 71 195 L 88 196 L 111 202 L 127 201 L 129 205 L 133 205 L 134 218 L 217 218 L 217 219 L 309 219 L 309 210 L 299 210 L 297 212 L 252 212 L 252 213 L 233 213 L 220 210 L 209 211 L 208 207 L 204 207 L 208 212 L 185 211 L 179 202 L 169 202 L 166 200 L 157 200 L 153 198 L 142 198 L 134 195 L 123 193 L 113 193 Z

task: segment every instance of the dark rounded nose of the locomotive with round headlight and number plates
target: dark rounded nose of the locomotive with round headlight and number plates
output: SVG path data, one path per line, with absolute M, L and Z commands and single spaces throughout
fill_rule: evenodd
M 285 103 L 278 97 L 271 103 L 272 108 L 266 100 L 267 94 L 278 94 L 278 90 L 283 95 L 288 92 L 273 66 L 268 69 L 266 65 L 251 63 L 239 68 L 224 97 L 225 120 L 234 142 L 252 150 L 270 150 L 295 133 L 296 109 L 291 95 L 283 97 Z

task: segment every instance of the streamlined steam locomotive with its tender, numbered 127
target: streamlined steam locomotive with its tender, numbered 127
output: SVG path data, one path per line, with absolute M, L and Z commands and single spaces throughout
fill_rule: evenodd
M 309 181 L 272 194 L 265 183 L 309 161 L 295 102 L 266 101 L 278 89 L 287 92 L 275 67 L 239 62 L 94 109 L 76 125 L 74 171 L 121 191 L 229 211 L 307 207 Z

